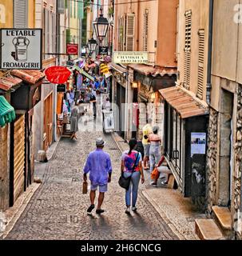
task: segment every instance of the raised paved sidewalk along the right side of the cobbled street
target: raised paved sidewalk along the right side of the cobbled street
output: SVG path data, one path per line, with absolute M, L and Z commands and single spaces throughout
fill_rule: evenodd
M 113 134 L 117 146 L 121 151 L 129 148 L 124 139 Z M 145 179 L 148 181 L 149 172 L 145 171 Z M 179 190 L 170 190 L 158 181 L 158 187 L 145 183 L 145 189 L 141 190 L 145 198 L 153 205 L 167 225 L 181 240 L 199 239 L 195 233 L 195 219 L 206 218 L 204 214 L 197 212 L 190 198 L 184 198 Z

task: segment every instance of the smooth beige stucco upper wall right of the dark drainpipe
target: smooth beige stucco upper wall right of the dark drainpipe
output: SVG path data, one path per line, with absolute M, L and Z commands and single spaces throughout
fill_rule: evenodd
M 242 1 L 214 1 L 211 106 L 216 110 L 220 106 L 220 78 L 242 83 L 242 23 L 235 22 L 234 10 L 239 3 Z

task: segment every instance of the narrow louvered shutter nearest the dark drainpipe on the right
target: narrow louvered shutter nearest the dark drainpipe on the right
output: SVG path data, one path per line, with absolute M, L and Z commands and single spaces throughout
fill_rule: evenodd
M 198 32 L 198 81 L 197 97 L 203 99 L 204 94 L 204 30 Z

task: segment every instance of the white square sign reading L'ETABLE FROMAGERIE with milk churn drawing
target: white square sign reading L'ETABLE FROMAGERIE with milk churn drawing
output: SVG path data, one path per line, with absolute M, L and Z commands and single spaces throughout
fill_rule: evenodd
M 1 68 L 42 69 L 41 29 L 1 29 Z

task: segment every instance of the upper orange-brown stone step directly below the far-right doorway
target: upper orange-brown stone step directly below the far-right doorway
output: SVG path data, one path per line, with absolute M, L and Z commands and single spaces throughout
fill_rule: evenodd
M 212 211 L 222 230 L 232 230 L 231 212 L 228 207 L 212 206 Z

